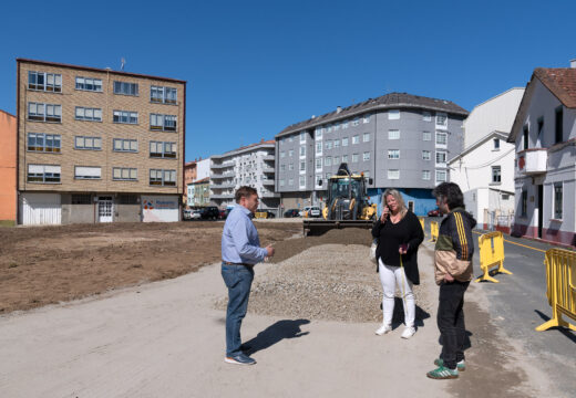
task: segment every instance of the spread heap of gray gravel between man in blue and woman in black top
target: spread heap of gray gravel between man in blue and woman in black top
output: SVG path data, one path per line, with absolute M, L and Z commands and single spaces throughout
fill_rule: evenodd
M 363 244 L 320 244 L 265 273 L 258 274 L 256 268 L 248 311 L 290 318 L 382 322 L 382 287 L 368 250 Z M 421 297 L 422 286 L 414 287 L 416 318 L 425 317 L 428 301 Z M 226 308 L 226 301 L 218 300 L 216 306 Z M 397 297 L 394 322 L 402 321 L 402 302 Z

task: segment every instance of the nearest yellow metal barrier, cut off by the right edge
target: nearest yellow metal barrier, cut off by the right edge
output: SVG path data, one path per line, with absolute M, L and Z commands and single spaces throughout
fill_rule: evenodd
M 537 332 L 554 326 L 564 326 L 576 331 L 562 315 L 576 321 L 576 252 L 564 249 L 551 249 L 544 259 L 546 265 L 546 295 L 552 306 L 552 318 L 536 327 Z

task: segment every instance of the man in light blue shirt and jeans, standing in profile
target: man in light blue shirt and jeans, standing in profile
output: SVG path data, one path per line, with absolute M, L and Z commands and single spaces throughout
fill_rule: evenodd
M 274 255 L 274 248 L 260 248 L 258 231 L 251 219 L 258 209 L 258 192 L 253 187 L 240 187 L 235 193 L 236 206 L 222 232 L 222 277 L 228 287 L 226 311 L 225 362 L 236 365 L 254 365 L 240 346 L 241 320 L 248 310 L 248 297 L 254 280 L 254 265 Z

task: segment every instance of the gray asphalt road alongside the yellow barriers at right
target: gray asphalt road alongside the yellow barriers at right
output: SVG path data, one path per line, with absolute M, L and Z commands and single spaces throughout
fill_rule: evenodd
M 436 220 L 436 219 L 433 219 Z M 438 219 L 440 220 L 440 219 Z M 426 231 L 430 232 L 430 220 Z M 482 231 L 474 231 L 477 238 Z M 522 345 L 528 357 L 548 375 L 559 390 L 576 396 L 576 333 L 566 328 L 536 332 L 534 328 L 552 316 L 546 298 L 544 253 L 555 248 L 546 243 L 504 235 L 504 268 L 513 275 L 498 274 L 500 283 L 482 282 L 488 298 L 488 313 L 498 329 Z M 520 245 L 522 244 L 522 245 Z M 474 274 L 482 275 L 474 254 Z M 529 247 L 529 248 L 526 248 Z

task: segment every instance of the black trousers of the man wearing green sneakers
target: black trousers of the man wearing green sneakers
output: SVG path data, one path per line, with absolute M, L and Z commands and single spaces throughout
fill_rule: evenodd
M 441 358 L 444 366 L 455 369 L 464 359 L 464 293 L 470 282 L 442 282 L 440 285 L 440 303 L 438 306 L 438 328 L 442 341 Z

